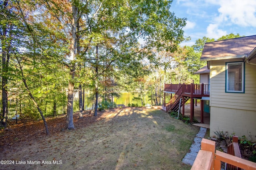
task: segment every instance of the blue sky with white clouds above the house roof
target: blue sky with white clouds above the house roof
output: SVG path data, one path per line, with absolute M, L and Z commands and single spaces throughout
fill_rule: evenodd
M 179 18 L 187 18 L 183 29 L 193 45 L 204 36 L 215 40 L 227 34 L 256 35 L 256 0 L 173 0 L 171 9 Z

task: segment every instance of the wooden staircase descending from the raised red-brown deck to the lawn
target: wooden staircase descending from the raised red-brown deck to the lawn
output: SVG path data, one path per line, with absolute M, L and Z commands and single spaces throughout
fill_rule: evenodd
M 183 97 L 182 97 L 183 85 L 180 84 L 180 87 L 178 88 L 178 91 L 174 94 L 174 96 L 170 99 L 170 102 L 166 105 L 166 112 L 169 112 L 169 111 L 177 112 L 180 109 L 180 107 L 182 107 L 182 103 L 183 103 Z M 184 96 L 184 103 L 186 103 L 188 101 L 188 99 L 190 99 L 190 97 Z

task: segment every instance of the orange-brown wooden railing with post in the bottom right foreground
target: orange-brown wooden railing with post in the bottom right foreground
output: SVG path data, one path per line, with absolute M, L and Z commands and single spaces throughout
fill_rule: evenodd
M 216 150 L 215 153 L 215 142 L 208 139 L 202 139 L 201 150 L 199 150 L 196 160 L 191 168 L 191 170 L 220 170 L 221 162 L 226 162 L 233 166 L 245 169 L 245 170 L 255 170 L 256 163 L 236 156 L 226 154 Z

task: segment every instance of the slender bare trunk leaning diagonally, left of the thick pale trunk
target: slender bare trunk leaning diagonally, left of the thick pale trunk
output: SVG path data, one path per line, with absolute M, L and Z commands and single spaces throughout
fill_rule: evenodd
M 41 117 L 42 117 L 42 119 L 43 119 L 43 121 L 44 121 L 44 127 L 45 127 L 45 130 L 46 130 L 46 134 L 48 135 L 48 134 L 49 134 L 49 130 L 48 130 L 48 126 L 47 126 L 46 120 L 45 120 L 45 118 L 44 118 L 44 115 L 43 115 L 43 113 L 42 113 L 40 107 L 39 107 L 38 104 L 36 103 L 36 100 L 35 100 L 34 96 L 32 95 L 32 93 L 30 92 L 30 90 L 29 90 L 29 88 L 28 88 L 28 85 L 27 85 L 27 83 L 26 83 L 26 79 L 25 79 L 24 74 L 23 74 L 23 69 L 22 69 L 22 66 L 21 66 L 21 64 L 20 64 L 20 60 L 18 59 L 18 57 L 16 57 L 16 59 L 17 59 L 17 61 L 18 61 L 19 67 L 20 67 L 20 72 L 21 72 L 21 75 L 22 75 L 22 81 L 23 81 L 23 83 L 24 83 L 24 85 L 25 85 L 25 87 L 26 87 L 26 90 L 28 91 L 28 94 L 29 94 L 30 98 L 32 99 L 34 105 L 36 106 L 38 112 L 40 113 L 40 115 L 41 115 Z

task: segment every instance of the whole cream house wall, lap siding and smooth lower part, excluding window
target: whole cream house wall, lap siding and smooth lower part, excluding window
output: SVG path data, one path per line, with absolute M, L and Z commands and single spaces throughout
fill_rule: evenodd
M 256 140 L 256 66 L 244 63 L 244 93 L 226 93 L 226 62 L 210 61 L 210 136 L 216 131 Z

